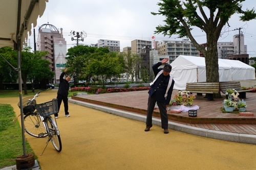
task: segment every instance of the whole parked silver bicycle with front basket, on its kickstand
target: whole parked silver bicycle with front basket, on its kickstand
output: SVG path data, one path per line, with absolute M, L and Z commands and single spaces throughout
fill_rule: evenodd
M 48 136 L 46 147 L 51 140 L 54 148 L 60 152 L 62 150 L 62 144 L 59 130 L 56 122 L 51 117 L 52 114 L 58 112 L 57 99 L 53 99 L 46 103 L 36 104 L 35 98 L 39 96 L 39 93 L 40 91 L 34 95 L 33 99 L 30 99 L 30 97 L 23 99 L 25 131 L 34 137 Z M 18 106 L 20 107 L 20 102 L 18 103 Z

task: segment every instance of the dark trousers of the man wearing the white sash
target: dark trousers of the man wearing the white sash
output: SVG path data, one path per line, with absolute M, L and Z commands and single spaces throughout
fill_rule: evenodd
M 147 102 L 147 113 L 146 113 L 146 126 L 152 126 L 152 114 L 154 112 L 154 107 L 156 104 L 156 94 L 153 93 L 151 96 L 148 96 Z M 157 102 L 161 115 L 162 129 L 168 129 L 168 115 L 166 110 L 165 103 Z

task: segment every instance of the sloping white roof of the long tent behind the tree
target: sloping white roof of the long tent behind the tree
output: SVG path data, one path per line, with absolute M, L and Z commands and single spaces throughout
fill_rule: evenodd
M 238 68 L 254 70 L 254 67 L 238 60 L 219 59 L 218 64 L 219 69 Z M 170 65 L 173 67 L 172 70 L 205 68 L 205 58 L 195 56 L 179 56 L 172 63 L 170 63 Z

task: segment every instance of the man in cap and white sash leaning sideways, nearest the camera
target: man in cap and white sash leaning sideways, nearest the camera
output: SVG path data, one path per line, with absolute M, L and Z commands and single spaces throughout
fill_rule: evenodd
M 173 93 L 174 80 L 170 76 L 170 71 L 172 66 L 165 64 L 169 59 L 164 58 L 161 62 L 158 62 L 152 66 L 155 80 L 150 84 L 150 90 L 148 91 L 148 102 L 147 102 L 147 115 L 146 115 L 146 128 L 145 131 L 150 131 L 152 127 L 152 114 L 154 111 L 155 104 L 159 107 L 161 115 L 162 129 L 164 133 L 169 133 L 168 131 L 168 115 L 166 108 L 170 102 L 170 98 Z M 163 69 L 158 68 L 162 64 L 165 64 Z

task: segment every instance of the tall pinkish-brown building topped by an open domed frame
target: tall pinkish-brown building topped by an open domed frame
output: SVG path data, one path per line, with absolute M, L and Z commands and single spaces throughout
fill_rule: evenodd
M 66 67 L 67 41 L 63 38 L 62 28 L 59 30 L 49 23 L 41 25 L 38 29 L 37 50 L 47 51 L 46 59 L 50 61 L 49 67 L 54 72 L 51 83 L 59 83 L 61 70 Z

